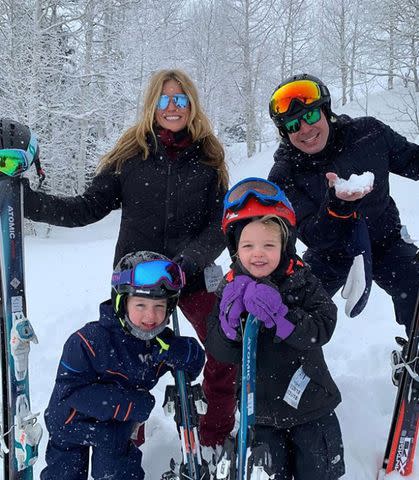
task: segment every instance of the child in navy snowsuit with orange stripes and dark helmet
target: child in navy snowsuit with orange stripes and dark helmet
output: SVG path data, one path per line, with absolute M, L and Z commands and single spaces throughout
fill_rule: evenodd
M 150 390 L 170 369 L 195 379 L 204 351 L 166 328 L 183 286 L 180 267 L 153 252 L 125 255 L 112 276 L 112 299 L 98 322 L 64 345 L 45 414 L 50 434 L 42 480 L 144 478 L 130 440 L 154 406 Z

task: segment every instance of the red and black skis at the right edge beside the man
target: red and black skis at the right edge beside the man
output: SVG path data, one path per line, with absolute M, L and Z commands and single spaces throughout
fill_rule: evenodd
M 402 353 L 393 351 L 392 363 L 394 370 L 402 371 L 378 478 L 385 478 L 391 472 L 407 477 L 413 472 L 419 430 L 419 295 L 409 340 Z

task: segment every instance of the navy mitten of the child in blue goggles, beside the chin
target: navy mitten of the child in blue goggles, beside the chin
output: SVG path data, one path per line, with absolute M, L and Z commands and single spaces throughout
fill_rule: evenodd
M 199 342 L 192 337 L 173 337 L 163 341 L 156 337 L 152 355 L 158 362 L 164 362 L 173 370 L 184 370 L 194 380 L 205 363 L 205 352 Z

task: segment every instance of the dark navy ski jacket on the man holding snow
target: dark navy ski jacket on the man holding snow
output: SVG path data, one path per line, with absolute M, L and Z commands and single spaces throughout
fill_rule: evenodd
M 372 253 L 400 239 L 400 216 L 389 191 L 389 173 L 419 179 L 419 145 L 373 117 L 339 116 L 330 124 L 326 148 L 308 155 L 285 140 L 275 153 L 269 180 L 284 189 L 296 215 L 298 237 L 317 253 L 341 252 L 356 216 L 366 219 Z M 344 202 L 329 189 L 325 174 L 372 172 L 374 188 L 363 199 Z

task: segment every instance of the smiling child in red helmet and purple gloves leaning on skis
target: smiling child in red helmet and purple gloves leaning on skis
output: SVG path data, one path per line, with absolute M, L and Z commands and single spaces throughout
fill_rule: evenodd
M 341 397 L 322 352 L 336 307 L 296 255 L 295 223 L 271 182 L 249 178 L 227 193 L 223 231 L 234 263 L 206 347 L 240 363 L 243 322 L 248 313 L 260 320 L 253 444 L 269 446 L 276 480 L 336 480 L 345 472 L 334 413 Z

